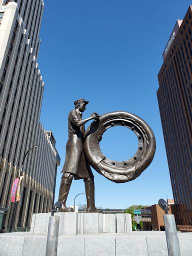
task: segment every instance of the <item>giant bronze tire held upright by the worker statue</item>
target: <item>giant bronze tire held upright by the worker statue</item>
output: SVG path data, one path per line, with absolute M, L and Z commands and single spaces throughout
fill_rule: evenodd
M 125 161 L 110 160 L 100 150 L 98 136 L 116 125 L 131 129 L 138 138 L 136 153 Z M 143 119 L 129 112 L 114 111 L 101 115 L 89 125 L 83 148 L 89 164 L 98 173 L 114 182 L 122 183 L 135 179 L 148 167 L 153 159 L 156 144 L 151 128 Z

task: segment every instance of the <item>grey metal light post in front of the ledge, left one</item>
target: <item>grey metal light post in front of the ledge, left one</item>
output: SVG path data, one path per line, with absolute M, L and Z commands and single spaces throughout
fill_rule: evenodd
M 46 256 L 56 256 L 58 243 L 59 216 L 50 216 L 46 241 Z

